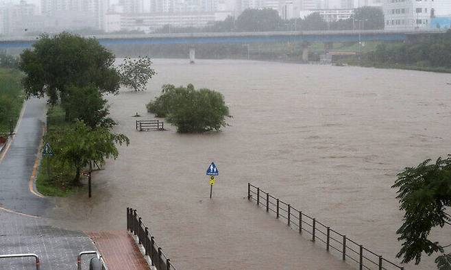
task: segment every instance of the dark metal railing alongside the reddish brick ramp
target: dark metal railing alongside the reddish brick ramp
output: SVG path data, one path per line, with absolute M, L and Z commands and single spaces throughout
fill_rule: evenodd
M 151 266 L 157 270 L 177 270 L 171 260 L 164 255 L 162 248 L 155 242 L 155 237 L 149 232 L 149 228 L 143 225 L 141 217 L 136 214 L 136 209 L 127 207 L 127 230 L 138 237 L 138 244 L 143 245 L 145 256 L 149 256 Z

